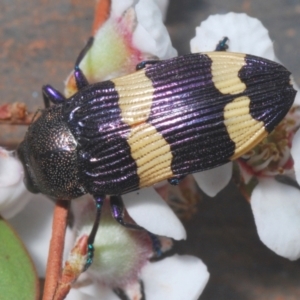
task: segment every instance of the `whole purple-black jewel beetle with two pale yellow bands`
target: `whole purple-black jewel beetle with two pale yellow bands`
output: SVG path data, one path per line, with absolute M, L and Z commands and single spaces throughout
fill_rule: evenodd
M 33 193 L 71 200 L 106 195 L 126 224 L 120 195 L 234 160 L 283 119 L 296 91 L 282 65 L 248 54 L 208 52 L 146 61 L 135 73 L 89 84 L 79 63 L 69 99 L 47 85 L 42 110 L 17 152 Z M 224 48 L 224 47 L 223 47 Z

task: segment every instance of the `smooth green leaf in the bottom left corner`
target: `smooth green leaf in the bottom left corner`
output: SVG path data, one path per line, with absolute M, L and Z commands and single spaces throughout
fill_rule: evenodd
M 0 217 L 0 299 L 38 299 L 36 271 L 23 243 Z

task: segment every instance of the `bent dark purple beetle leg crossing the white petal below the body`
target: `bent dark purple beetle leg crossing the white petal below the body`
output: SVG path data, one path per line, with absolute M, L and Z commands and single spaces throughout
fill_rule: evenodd
M 154 255 L 156 257 L 159 257 L 162 255 L 161 243 L 160 243 L 159 238 L 155 234 L 147 231 L 145 228 L 143 228 L 137 224 L 131 224 L 131 223 L 127 223 L 124 221 L 124 211 L 125 211 L 124 203 L 120 196 L 111 196 L 110 197 L 110 207 L 111 207 L 111 212 L 112 212 L 113 218 L 122 226 L 124 226 L 128 229 L 145 230 L 149 234 L 150 239 L 152 241 Z

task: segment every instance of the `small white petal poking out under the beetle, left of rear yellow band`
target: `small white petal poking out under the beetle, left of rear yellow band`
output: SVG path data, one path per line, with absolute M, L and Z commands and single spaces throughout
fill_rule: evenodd
M 232 177 L 232 162 L 218 168 L 193 174 L 201 190 L 210 197 L 215 197 Z

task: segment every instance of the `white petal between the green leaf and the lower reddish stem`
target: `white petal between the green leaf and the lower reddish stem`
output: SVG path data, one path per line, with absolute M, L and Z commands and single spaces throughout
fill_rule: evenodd
M 45 276 L 53 208 L 54 203 L 45 196 L 31 194 L 26 208 L 10 219 L 10 224 L 23 240 L 40 277 Z

